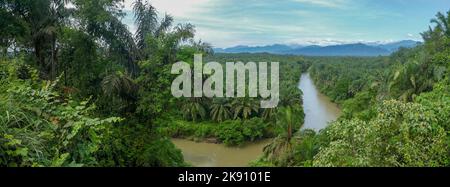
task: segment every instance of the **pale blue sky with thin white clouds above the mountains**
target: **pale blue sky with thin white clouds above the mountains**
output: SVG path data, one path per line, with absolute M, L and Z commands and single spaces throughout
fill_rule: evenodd
M 125 0 L 123 22 L 135 30 Z M 196 27 L 214 47 L 271 44 L 334 45 L 421 40 L 450 0 L 150 0 L 162 16 Z

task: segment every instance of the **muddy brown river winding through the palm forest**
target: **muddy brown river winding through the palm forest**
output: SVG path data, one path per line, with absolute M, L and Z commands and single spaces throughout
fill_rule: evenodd
M 321 94 L 308 73 L 302 75 L 299 89 L 303 91 L 305 124 L 303 128 L 316 131 L 327 126 L 340 115 L 336 104 Z M 197 167 L 245 167 L 256 160 L 270 140 L 248 143 L 243 147 L 227 147 L 222 144 L 197 143 L 184 139 L 173 139 L 173 143 L 181 149 L 184 159 Z

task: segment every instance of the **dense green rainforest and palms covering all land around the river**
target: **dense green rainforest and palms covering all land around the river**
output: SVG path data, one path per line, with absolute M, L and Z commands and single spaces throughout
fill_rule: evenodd
M 240 146 L 251 166 L 449 166 L 450 12 L 389 57 L 214 54 L 195 27 L 136 0 L 0 0 L 0 166 L 189 166 L 171 138 Z M 175 98 L 178 61 L 280 62 L 280 104 Z M 343 115 L 301 129 L 302 73 Z M 301 129 L 301 130 L 300 130 Z

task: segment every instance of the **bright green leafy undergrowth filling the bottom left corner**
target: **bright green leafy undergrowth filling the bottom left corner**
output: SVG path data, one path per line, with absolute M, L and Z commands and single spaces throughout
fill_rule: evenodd
M 122 119 L 92 116 L 95 105 L 64 98 L 56 82 L 10 80 L 2 87 L 3 166 L 94 166 L 104 135 Z M 7 90 L 5 90 L 7 88 Z

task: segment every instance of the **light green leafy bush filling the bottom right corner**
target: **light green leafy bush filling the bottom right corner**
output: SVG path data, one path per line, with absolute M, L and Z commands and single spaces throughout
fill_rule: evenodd
M 420 104 L 385 101 L 376 118 L 336 122 L 331 142 L 315 166 L 441 166 L 447 164 L 446 132 Z

